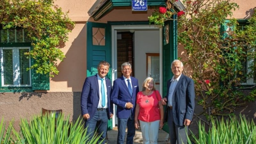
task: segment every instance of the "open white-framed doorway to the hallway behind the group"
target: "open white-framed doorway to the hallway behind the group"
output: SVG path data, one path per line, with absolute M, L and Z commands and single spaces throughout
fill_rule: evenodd
M 156 89 L 162 94 L 162 28 L 154 25 L 112 25 L 112 82 L 122 76 L 121 65 L 132 64 L 132 76 L 142 83 L 147 78 L 147 54 L 159 54 L 159 84 Z M 112 126 L 117 125 L 116 108 Z

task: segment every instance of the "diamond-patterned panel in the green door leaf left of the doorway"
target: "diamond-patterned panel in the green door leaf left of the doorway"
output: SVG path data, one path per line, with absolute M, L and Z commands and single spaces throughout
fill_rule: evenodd
M 105 46 L 105 28 L 92 27 L 92 45 Z

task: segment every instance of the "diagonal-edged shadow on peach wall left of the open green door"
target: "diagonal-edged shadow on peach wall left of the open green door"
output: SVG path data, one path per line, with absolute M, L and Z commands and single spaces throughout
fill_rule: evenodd
M 67 87 L 72 88 L 73 92 L 82 91 L 84 79 L 86 77 L 86 24 L 76 22 L 73 31 L 80 31 L 72 41 L 72 45 L 65 54 L 65 59 L 57 66 L 60 71 L 51 80 L 55 82 L 67 82 Z

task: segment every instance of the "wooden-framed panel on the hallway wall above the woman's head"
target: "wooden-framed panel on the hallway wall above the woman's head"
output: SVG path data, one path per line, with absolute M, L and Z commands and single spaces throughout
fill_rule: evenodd
M 146 53 L 146 66 L 147 66 L 147 76 L 152 77 L 156 84 L 160 82 L 160 71 L 159 71 L 159 53 Z

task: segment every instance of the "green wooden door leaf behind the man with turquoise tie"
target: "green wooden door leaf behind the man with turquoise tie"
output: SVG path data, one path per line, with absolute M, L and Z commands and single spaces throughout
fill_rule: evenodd
M 111 80 L 111 29 L 109 24 L 87 22 L 87 77 L 98 73 L 100 61 L 108 61 L 107 77 Z M 102 37 L 102 38 L 101 38 Z M 102 41 L 104 40 L 104 42 Z M 95 43 L 96 42 L 96 43 Z M 103 42 L 103 44 L 101 43 Z M 108 120 L 108 130 L 112 129 L 112 119 Z

